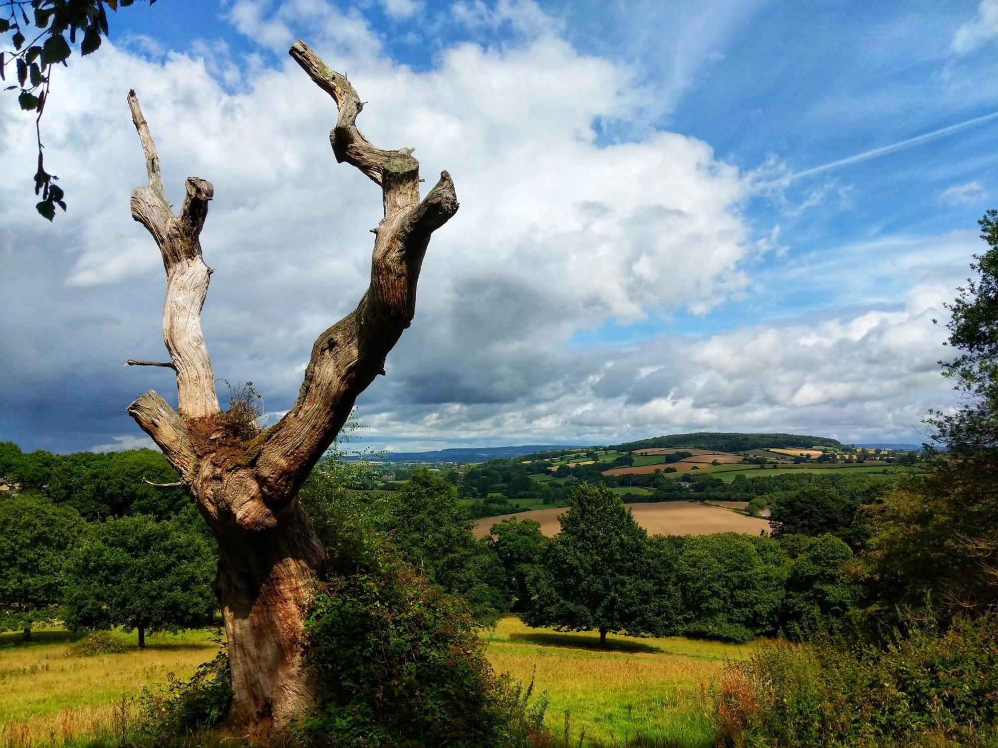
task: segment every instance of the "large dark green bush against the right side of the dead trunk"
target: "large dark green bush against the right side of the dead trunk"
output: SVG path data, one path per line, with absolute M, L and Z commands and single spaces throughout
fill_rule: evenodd
M 528 745 L 543 699 L 497 677 L 459 598 L 385 550 L 315 594 L 306 656 L 322 685 L 297 737 L 321 746 Z

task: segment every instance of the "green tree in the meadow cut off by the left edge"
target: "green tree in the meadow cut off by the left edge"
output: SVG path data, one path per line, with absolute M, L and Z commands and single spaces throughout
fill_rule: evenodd
M 0 498 L 0 628 L 24 631 L 58 617 L 66 559 L 86 524 L 34 494 Z

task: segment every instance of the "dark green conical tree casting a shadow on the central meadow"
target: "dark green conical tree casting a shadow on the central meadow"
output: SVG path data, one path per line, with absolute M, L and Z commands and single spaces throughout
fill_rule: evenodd
M 609 631 L 651 633 L 645 531 L 606 486 L 582 485 L 568 502 L 569 511 L 558 518 L 561 533 L 528 579 L 523 620 L 559 630 L 596 629 L 601 646 Z

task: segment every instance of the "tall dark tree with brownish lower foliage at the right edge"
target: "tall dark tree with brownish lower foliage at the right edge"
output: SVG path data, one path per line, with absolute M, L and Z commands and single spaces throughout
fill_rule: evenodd
M 959 398 L 926 419 L 945 459 L 868 510 L 858 578 L 865 610 L 888 623 L 899 605 L 930 603 L 945 622 L 998 604 L 998 210 L 979 223 L 988 248 L 947 304 L 954 355 L 940 362 Z

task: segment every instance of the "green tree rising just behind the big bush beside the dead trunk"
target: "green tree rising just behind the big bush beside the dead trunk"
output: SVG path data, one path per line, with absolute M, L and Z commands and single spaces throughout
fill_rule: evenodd
M 431 581 L 465 599 L 481 622 L 494 622 L 508 608 L 504 570 L 485 543 L 475 540 L 474 521 L 457 489 L 428 470 L 413 471 L 392 494 L 382 521 L 392 543 Z

